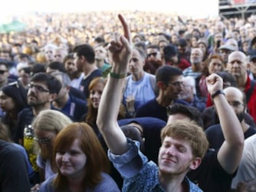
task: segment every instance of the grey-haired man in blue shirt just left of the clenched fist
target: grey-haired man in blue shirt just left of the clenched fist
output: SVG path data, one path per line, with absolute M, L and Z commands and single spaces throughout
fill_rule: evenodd
M 175 99 L 175 103 L 184 104 L 185 106 L 195 107 L 200 112 L 205 109 L 205 102 L 200 100 L 195 94 L 195 80 L 193 77 L 184 77 L 182 91 L 179 98 Z

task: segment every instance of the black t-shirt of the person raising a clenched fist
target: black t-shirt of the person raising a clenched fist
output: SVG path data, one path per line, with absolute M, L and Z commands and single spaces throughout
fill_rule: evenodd
M 203 191 L 227 192 L 231 188 L 233 177 L 236 175 L 236 172 L 229 174 L 221 167 L 217 154 L 217 150 L 208 149 L 199 167 L 187 173 L 189 179 Z

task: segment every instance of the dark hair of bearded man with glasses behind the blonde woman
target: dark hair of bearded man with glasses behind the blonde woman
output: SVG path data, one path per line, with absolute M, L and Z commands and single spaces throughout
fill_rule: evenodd
M 32 76 L 31 81 L 45 83 L 49 90 L 49 93 L 58 94 L 62 86 L 61 82 L 57 78 L 47 73 L 35 73 L 35 75 Z

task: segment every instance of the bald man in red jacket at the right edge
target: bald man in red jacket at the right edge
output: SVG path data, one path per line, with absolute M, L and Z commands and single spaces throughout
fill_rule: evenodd
M 234 51 L 228 57 L 227 70 L 236 78 L 237 88 L 245 93 L 249 114 L 256 122 L 256 82 L 247 74 L 247 64 L 245 54 Z

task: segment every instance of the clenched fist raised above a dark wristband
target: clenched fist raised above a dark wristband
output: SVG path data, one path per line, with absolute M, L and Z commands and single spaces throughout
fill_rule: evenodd
M 207 89 L 210 94 L 217 90 L 223 90 L 223 79 L 216 73 L 209 75 L 207 77 Z

